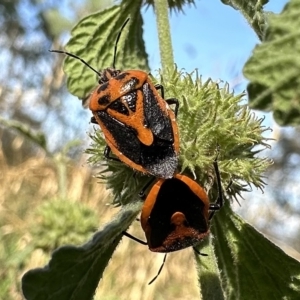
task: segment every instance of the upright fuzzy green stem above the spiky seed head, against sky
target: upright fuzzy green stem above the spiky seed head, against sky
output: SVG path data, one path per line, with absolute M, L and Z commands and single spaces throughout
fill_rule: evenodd
M 167 69 L 171 70 L 174 68 L 168 1 L 154 0 L 154 8 L 156 14 L 162 72 L 165 74 Z

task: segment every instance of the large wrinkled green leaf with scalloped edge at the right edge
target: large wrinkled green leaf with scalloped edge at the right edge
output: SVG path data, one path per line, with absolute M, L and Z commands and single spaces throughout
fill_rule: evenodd
M 244 67 L 252 108 L 273 110 L 280 125 L 300 124 L 300 1 L 270 15 L 265 41 Z

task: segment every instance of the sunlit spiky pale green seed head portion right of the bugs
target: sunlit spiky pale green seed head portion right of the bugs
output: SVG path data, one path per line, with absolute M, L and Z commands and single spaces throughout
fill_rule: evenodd
M 234 95 L 228 84 L 220 87 L 211 79 L 203 82 L 197 72 L 183 74 L 175 70 L 170 78 L 168 82 L 161 78 L 160 82 L 167 96 L 182 100 L 178 114 L 181 171 L 189 169 L 205 185 L 207 174 L 213 173 L 209 170 L 219 145 L 224 184 L 241 180 L 262 188 L 261 174 L 270 161 L 256 155 L 269 147 L 263 136 L 269 128 L 243 103 L 245 95 Z M 253 165 L 256 170 L 250 167 Z

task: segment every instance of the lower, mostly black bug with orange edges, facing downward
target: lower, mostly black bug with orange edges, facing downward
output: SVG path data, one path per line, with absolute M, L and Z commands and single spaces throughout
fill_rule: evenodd
M 218 198 L 214 203 L 210 203 L 204 188 L 186 175 L 175 174 L 171 179 L 159 179 L 145 197 L 145 190 L 151 184 L 149 182 L 140 193 L 145 200 L 140 221 L 147 242 L 127 232 L 123 234 L 148 245 L 153 252 L 169 253 L 187 247 L 194 248 L 208 236 L 209 222 L 224 203 L 217 159 L 214 169 L 218 187 Z M 194 250 L 201 254 L 196 248 Z

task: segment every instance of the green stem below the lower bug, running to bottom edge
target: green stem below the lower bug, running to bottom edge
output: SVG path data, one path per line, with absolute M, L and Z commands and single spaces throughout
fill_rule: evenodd
M 201 242 L 201 253 L 208 256 L 199 256 L 195 253 L 198 265 L 198 280 L 202 300 L 224 300 L 220 272 L 217 265 L 211 237 Z M 203 245 L 204 244 L 204 245 Z

